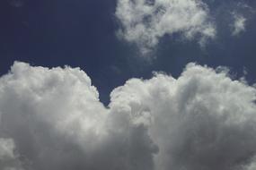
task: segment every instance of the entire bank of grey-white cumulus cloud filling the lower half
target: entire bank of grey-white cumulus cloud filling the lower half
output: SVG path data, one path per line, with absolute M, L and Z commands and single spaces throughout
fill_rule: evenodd
M 80 69 L 16 62 L 0 78 L 1 165 L 252 170 L 256 89 L 227 74 L 188 64 L 178 79 L 131 79 L 105 107 Z

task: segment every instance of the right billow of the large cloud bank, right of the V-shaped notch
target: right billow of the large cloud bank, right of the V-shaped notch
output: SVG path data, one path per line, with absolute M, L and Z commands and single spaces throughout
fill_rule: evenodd
M 231 170 L 256 153 L 255 92 L 226 71 L 189 64 L 177 80 L 156 74 L 128 81 L 114 89 L 110 107 L 129 108 L 135 120 L 151 122 L 156 169 Z

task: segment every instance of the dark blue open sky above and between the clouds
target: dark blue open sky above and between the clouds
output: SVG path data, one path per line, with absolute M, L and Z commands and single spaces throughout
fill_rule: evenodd
M 218 34 L 202 49 L 196 41 L 162 38 L 151 62 L 140 57 L 137 47 L 116 37 L 119 22 L 114 16 L 116 0 L 1 0 L 0 74 L 18 60 L 41 66 L 79 66 L 92 79 L 105 104 L 115 87 L 129 78 L 149 78 L 153 71 L 179 76 L 190 62 L 248 74 L 256 81 L 256 17 L 243 11 L 246 31 L 234 37 L 223 13 L 232 1 L 208 1 L 216 15 Z M 255 9 L 254 1 L 245 1 Z M 224 6 L 221 9 L 218 6 Z

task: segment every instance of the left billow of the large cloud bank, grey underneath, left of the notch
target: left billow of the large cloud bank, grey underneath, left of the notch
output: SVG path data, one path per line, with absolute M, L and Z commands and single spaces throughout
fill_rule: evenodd
M 15 63 L 0 79 L 0 135 L 13 139 L 26 169 L 152 169 L 146 128 L 111 115 L 78 68 Z

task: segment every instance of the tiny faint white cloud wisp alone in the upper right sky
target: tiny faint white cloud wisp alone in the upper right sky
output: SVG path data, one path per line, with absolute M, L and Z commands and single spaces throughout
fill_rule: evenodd
M 245 31 L 246 18 L 241 14 L 233 13 L 234 23 L 232 25 L 232 35 L 237 36 Z

